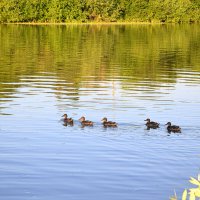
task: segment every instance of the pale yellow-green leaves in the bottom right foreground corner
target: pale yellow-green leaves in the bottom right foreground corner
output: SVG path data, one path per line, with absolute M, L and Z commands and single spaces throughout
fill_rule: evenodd
M 198 176 L 198 179 L 191 177 L 189 181 L 197 187 L 184 190 L 182 200 L 196 200 L 196 197 L 200 197 L 200 176 Z M 170 200 L 178 200 L 176 194 Z

